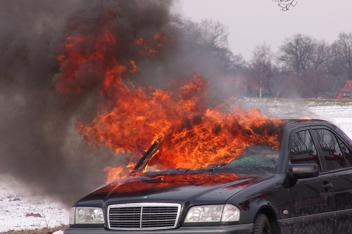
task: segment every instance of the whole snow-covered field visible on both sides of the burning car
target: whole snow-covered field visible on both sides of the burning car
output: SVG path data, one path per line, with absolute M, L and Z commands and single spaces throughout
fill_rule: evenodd
M 352 102 L 234 99 L 248 108 L 278 118 L 319 118 L 339 126 L 352 138 Z M 54 199 L 44 199 L 8 175 L 0 177 L 0 232 L 68 224 L 69 210 Z

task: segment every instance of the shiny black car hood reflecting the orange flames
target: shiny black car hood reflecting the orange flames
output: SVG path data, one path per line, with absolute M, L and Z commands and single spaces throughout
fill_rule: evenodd
M 272 175 L 175 173 L 130 176 L 102 187 L 77 205 L 134 202 L 224 203 L 232 195 Z

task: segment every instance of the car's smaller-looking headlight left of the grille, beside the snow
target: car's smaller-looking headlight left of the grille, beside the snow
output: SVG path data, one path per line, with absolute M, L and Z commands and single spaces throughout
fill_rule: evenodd
M 72 207 L 69 224 L 104 223 L 103 210 L 99 207 Z

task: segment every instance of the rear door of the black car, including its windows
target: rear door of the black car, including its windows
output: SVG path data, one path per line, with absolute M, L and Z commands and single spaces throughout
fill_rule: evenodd
M 352 151 L 344 136 L 329 128 L 313 129 L 334 190 L 335 233 L 349 234 L 352 227 Z

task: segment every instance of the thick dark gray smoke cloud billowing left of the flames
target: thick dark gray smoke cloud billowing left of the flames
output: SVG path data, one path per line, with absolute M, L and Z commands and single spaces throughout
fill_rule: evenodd
M 194 67 L 213 76 L 216 63 L 170 23 L 171 6 L 172 1 L 153 0 L 1 0 L 0 173 L 71 206 L 104 183 L 106 166 L 126 165 L 128 158 L 103 146 L 92 149 L 76 131 L 77 122 L 92 120 L 96 104 L 104 101 L 100 76 L 83 77 L 80 95 L 57 93 L 57 55 L 67 36 L 94 33 L 111 13 L 108 25 L 122 44 L 113 56 L 121 62 L 136 59 L 140 72 L 129 77 L 136 85 L 165 88 L 170 79 L 190 76 Z M 153 59 L 138 55 L 131 39 L 158 32 L 176 44 Z

